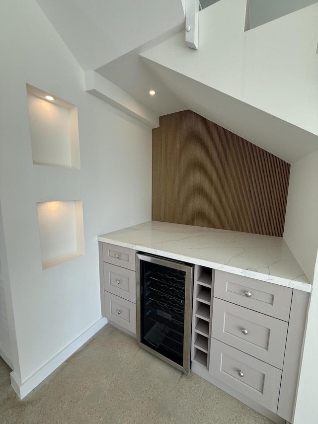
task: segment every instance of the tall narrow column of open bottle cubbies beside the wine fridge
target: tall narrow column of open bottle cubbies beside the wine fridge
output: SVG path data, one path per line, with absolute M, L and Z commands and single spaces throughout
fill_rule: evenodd
M 209 364 L 211 338 L 211 299 L 213 270 L 197 265 L 194 273 L 192 360 L 204 367 Z

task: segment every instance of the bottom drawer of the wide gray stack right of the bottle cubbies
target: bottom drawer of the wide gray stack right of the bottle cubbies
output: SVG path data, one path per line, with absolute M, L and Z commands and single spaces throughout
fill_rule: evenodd
M 211 340 L 210 374 L 276 413 L 281 370 L 218 340 Z

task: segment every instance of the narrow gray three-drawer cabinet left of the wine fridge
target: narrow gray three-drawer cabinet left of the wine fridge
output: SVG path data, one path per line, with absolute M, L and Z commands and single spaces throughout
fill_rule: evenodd
M 136 335 L 136 251 L 99 242 L 102 315 Z

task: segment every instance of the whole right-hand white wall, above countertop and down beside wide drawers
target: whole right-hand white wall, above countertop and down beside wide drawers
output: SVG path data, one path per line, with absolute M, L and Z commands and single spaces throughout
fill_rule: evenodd
M 313 282 L 294 424 L 318 417 L 318 151 L 291 165 L 284 239 Z M 316 263 L 316 269 L 315 269 Z

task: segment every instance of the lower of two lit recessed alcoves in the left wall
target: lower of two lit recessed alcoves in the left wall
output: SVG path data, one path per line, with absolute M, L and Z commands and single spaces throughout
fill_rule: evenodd
M 81 200 L 37 203 L 42 268 L 84 254 Z

